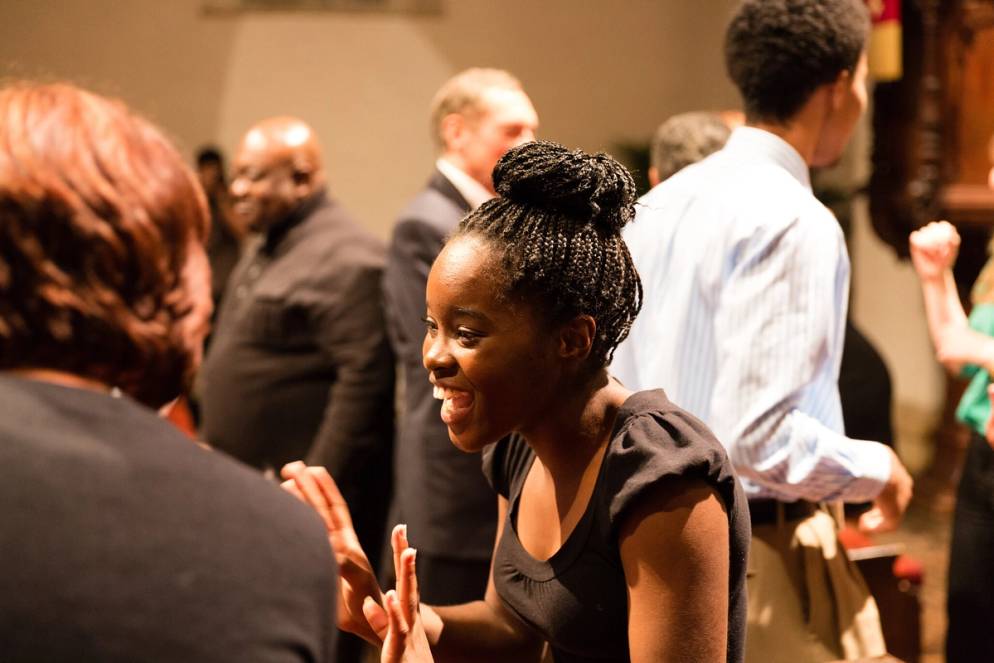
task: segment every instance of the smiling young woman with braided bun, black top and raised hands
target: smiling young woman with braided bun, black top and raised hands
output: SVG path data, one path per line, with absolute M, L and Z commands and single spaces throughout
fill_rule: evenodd
M 415 609 L 398 531 L 396 610 L 327 475 L 288 467 L 349 582 L 343 627 L 389 633 L 384 660 L 428 660 L 426 643 L 436 660 L 741 660 L 749 524 L 731 464 L 662 391 L 633 394 L 606 369 L 641 300 L 620 237 L 631 177 L 535 142 L 494 183 L 432 267 L 423 347 L 452 442 L 484 450 L 499 495 L 486 599 Z

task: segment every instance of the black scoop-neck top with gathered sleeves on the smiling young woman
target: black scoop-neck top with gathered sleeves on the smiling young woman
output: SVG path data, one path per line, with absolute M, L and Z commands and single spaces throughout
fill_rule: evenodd
M 532 557 L 515 531 L 521 489 L 534 459 L 517 435 L 484 452 L 484 474 L 509 503 L 494 553 L 494 583 L 504 604 L 549 642 L 558 663 L 629 660 L 618 528 L 644 491 L 675 477 L 699 478 L 724 501 L 730 543 L 727 660 L 743 659 L 749 511 L 724 448 L 703 423 L 661 390 L 629 397 L 618 412 L 586 511 L 545 561 Z

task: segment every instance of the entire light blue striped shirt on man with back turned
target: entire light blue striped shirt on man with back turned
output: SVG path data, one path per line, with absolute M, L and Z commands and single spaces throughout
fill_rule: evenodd
M 706 422 L 750 497 L 876 496 L 888 449 L 842 433 L 849 258 L 801 155 L 736 129 L 637 210 L 624 237 L 645 303 L 612 372 Z

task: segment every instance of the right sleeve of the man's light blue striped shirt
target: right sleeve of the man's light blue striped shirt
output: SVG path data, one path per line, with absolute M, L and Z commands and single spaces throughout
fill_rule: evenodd
M 848 290 L 842 239 L 830 221 L 757 232 L 715 316 L 715 433 L 740 476 L 784 500 L 866 501 L 890 476 L 884 445 L 823 423 L 826 412 L 839 412 L 833 343 L 841 342 Z

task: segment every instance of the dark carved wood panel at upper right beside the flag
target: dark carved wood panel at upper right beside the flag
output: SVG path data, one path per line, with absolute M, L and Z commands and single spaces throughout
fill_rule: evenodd
M 994 225 L 994 192 L 986 186 L 994 0 L 906 0 L 903 64 L 901 80 L 874 91 L 870 208 L 877 233 L 906 256 L 908 233 L 935 218 L 980 226 L 965 229 L 977 239 Z M 972 281 L 983 263 L 980 244 L 961 260 L 963 280 Z

